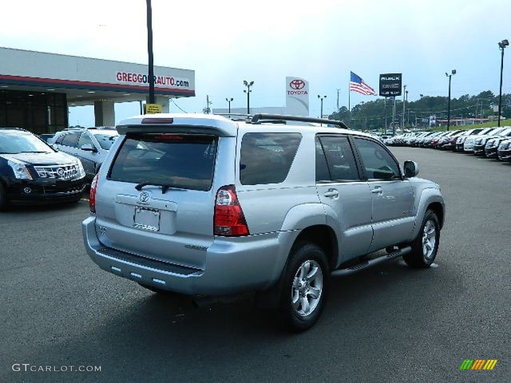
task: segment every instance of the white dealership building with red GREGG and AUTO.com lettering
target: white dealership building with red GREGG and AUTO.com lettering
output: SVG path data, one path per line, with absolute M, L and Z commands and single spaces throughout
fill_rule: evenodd
M 94 105 L 95 126 L 115 125 L 115 103 L 148 102 L 148 66 L 0 47 L 0 127 L 52 133 L 68 108 Z M 195 96 L 195 71 L 154 66 L 162 112 L 169 99 Z

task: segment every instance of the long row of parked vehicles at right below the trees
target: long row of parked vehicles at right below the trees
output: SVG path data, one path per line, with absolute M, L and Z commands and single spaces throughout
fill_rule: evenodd
M 389 146 L 452 150 L 511 162 L 511 127 L 404 133 L 383 141 Z

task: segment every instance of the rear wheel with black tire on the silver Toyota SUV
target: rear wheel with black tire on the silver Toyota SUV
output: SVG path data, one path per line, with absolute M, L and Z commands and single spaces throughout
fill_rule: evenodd
M 278 312 L 284 325 L 293 332 L 307 330 L 317 322 L 327 301 L 327 256 L 315 244 L 298 244 L 291 250 L 282 278 Z

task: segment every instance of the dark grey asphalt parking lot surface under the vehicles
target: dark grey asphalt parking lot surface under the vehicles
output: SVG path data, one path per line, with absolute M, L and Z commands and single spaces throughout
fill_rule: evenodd
M 194 308 L 103 272 L 83 247 L 86 201 L 1 213 L 0 381 L 510 381 L 511 163 L 391 150 L 442 187 L 437 267 L 399 259 L 334 279 L 323 317 L 297 335 L 249 298 Z M 461 371 L 467 359 L 498 362 Z

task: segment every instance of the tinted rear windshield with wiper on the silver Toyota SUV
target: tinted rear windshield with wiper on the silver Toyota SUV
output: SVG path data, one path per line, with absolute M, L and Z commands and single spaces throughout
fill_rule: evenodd
M 129 134 L 109 179 L 210 190 L 218 138 L 213 135 Z

